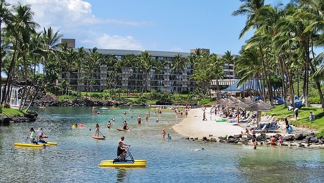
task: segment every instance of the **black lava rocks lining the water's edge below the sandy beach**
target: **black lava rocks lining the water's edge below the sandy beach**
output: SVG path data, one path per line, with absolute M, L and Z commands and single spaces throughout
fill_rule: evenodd
M 207 142 L 223 142 L 223 143 L 232 143 L 232 144 L 251 144 L 252 140 L 252 135 L 244 135 L 242 136 L 241 134 L 239 135 L 229 135 L 227 137 L 222 137 L 219 136 L 217 140 L 216 138 L 212 137 L 212 134 L 209 134 L 209 137 L 207 138 L 206 136 L 202 137 L 202 141 L 207 141 Z M 278 137 L 280 134 L 275 134 L 274 137 L 277 140 L 277 145 L 278 143 Z M 283 136 L 283 135 L 281 135 Z M 267 135 L 266 133 L 261 133 L 260 135 L 256 136 L 256 143 L 257 145 L 270 145 L 270 138 L 272 135 Z M 187 140 L 199 140 L 198 137 L 184 137 L 183 139 Z M 309 134 L 303 134 L 303 133 L 298 133 L 295 135 L 286 135 L 283 136 L 283 142 L 281 143 L 281 146 L 297 146 L 297 147 L 320 147 L 324 148 L 323 146 L 324 143 L 324 137 L 320 136 L 317 137 L 315 133 L 309 133 Z

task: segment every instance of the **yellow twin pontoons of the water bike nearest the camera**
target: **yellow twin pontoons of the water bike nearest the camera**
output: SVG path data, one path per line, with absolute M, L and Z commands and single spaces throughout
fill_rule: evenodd
M 99 165 L 99 167 L 146 167 L 146 160 L 125 160 L 121 162 L 113 162 L 104 160 Z

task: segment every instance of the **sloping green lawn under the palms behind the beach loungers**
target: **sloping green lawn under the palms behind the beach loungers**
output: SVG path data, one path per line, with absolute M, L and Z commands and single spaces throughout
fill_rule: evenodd
M 315 114 L 315 120 L 313 123 L 310 123 L 308 118 L 310 112 L 313 112 Z M 324 112 L 322 108 L 301 107 L 301 109 L 299 109 L 297 121 L 295 120 L 293 110 L 288 111 L 287 107 L 284 107 L 284 105 L 274 106 L 272 111 L 264 113 L 267 115 L 274 115 L 275 118 L 281 120 L 283 120 L 284 118 L 288 118 L 288 121 L 290 121 L 291 123 L 295 123 L 297 126 L 313 128 L 319 131 L 324 130 Z

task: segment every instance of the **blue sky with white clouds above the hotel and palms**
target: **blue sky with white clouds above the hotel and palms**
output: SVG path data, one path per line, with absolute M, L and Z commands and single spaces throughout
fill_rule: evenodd
M 76 39 L 76 48 L 156 50 L 238 54 L 253 35 L 238 39 L 246 16 L 231 14 L 239 0 L 7 0 L 29 4 L 34 21 L 63 38 Z M 287 0 L 268 0 L 273 6 Z M 324 52 L 323 49 L 319 50 Z

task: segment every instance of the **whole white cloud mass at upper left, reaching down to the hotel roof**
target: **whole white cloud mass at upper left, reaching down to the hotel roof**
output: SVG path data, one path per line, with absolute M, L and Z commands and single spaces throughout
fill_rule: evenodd
M 7 0 L 11 5 L 17 1 Z M 34 21 L 40 24 L 41 29 L 52 27 L 60 31 L 64 38 L 75 38 L 77 43 L 85 43 L 97 48 L 111 49 L 138 49 L 140 44 L 131 36 L 109 36 L 105 33 L 107 26 L 126 25 L 143 26 L 152 25 L 149 22 L 136 22 L 128 20 L 97 18 L 91 10 L 91 4 L 81 0 L 20 0 L 22 5 L 31 5 L 35 12 Z

